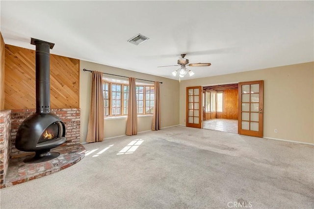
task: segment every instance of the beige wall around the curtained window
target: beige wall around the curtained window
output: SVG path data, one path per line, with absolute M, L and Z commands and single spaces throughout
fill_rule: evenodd
M 97 63 L 80 60 L 80 86 L 79 105 L 81 110 L 81 142 L 86 141 L 86 133 L 90 108 L 90 86 L 91 73 L 84 72 L 83 69 L 101 71 L 115 75 L 155 80 L 163 82 L 160 84 L 161 102 L 161 128 L 179 125 L 179 81 L 138 73 L 125 69 L 105 66 Z M 117 77 L 119 79 L 119 77 Z M 121 79 L 121 78 L 120 78 Z M 153 84 L 153 83 L 152 83 Z M 125 135 L 126 118 L 105 120 L 105 138 Z M 152 116 L 138 117 L 138 131 L 149 131 L 152 129 Z M 82 135 L 84 133 L 84 135 Z

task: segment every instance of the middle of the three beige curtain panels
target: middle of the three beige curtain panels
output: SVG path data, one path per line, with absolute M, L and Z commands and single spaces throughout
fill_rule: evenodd
M 137 134 L 137 105 L 136 105 L 136 90 L 135 78 L 129 78 L 129 100 L 128 100 L 128 120 L 126 134 Z

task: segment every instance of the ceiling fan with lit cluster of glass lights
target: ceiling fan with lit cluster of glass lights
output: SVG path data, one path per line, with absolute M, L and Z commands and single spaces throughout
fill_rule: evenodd
M 193 76 L 194 73 L 187 69 L 185 66 L 190 66 L 190 67 L 200 67 L 200 66 L 210 66 L 211 64 L 210 63 L 192 63 L 192 64 L 189 64 L 189 60 L 188 59 L 185 59 L 185 53 L 181 54 L 181 57 L 178 59 L 178 65 L 166 65 L 166 66 L 158 66 L 158 68 L 161 68 L 161 67 L 170 67 L 170 66 L 180 66 L 180 68 L 178 70 L 175 70 L 172 72 L 172 75 L 173 76 L 176 76 L 177 73 L 179 72 L 179 77 L 180 78 L 183 78 L 187 73 L 189 74 L 189 76 Z

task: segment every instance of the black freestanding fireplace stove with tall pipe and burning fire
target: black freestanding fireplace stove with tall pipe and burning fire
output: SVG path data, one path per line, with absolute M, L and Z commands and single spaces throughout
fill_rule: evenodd
M 36 113 L 20 125 L 15 147 L 26 152 L 36 152 L 25 163 L 51 160 L 60 154 L 50 152 L 66 141 L 65 126 L 61 119 L 50 112 L 50 49 L 54 44 L 31 38 L 36 45 Z

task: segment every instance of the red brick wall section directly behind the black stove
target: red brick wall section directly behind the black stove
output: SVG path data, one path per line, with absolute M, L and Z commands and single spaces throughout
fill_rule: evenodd
M 13 109 L 11 113 L 11 157 L 26 155 L 26 152 L 15 148 L 16 132 L 20 124 L 31 114 L 35 113 L 36 109 Z M 56 114 L 64 123 L 67 141 L 61 145 L 78 144 L 80 140 L 80 109 L 79 108 L 58 108 L 51 109 L 51 112 Z M 29 153 L 29 152 L 28 152 Z M 30 153 L 29 153 L 30 154 Z

